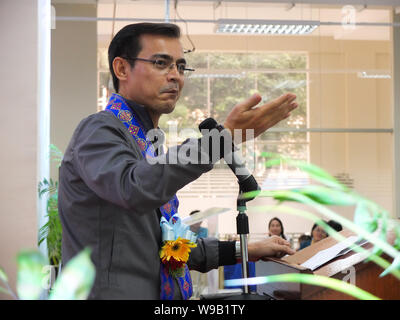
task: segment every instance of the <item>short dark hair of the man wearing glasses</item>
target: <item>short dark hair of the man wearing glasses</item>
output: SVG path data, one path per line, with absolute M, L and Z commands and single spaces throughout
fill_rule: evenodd
M 179 38 L 181 35 L 177 25 L 172 23 L 134 23 L 123 27 L 111 40 L 108 47 L 108 64 L 113 78 L 114 89 L 119 90 L 118 78 L 115 76 L 112 63 L 116 57 L 136 58 L 142 50 L 140 36 L 143 34 L 161 35 L 170 38 Z M 128 60 L 133 67 L 135 62 Z

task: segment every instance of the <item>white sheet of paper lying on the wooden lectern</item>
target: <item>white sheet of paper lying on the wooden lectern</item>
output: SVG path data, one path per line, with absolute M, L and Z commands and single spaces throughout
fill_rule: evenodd
M 335 244 L 334 246 L 322 250 L 318 253 L 316 253 L 314 256 L 312 256 L 310 259 L 305 261 L 302 266 L 305 268 L 308 268 L 310 270 L 315 270 L 318 267 L 322 266 L 324 263 L 332 260 L 333 258 L 342 256 L 346 253 L 348 253 L 351 249 L 349 247 L 356 243 L 358 245 L 363 245 L 366 241 L 365 240 L 359 240 L 358 236 L 351 236 L 348 237 L 346 240 L 339 242 Z

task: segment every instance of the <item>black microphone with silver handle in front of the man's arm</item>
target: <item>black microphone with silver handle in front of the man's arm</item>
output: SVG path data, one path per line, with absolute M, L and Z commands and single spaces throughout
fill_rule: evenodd
M 217 129 L 219 132 L 224 130 L 225 128 L 218 124 L 217 121 L 215 121 L 213 118 L 207 118 L 204 121 L 202 121 L 199 125 L 199 129 L 201 130 L 213 130 Z M 221 136 L 223 138 L 223 136 Z M 224 139 L 220 139 L 220 142 L 224 142 Z M 224 143 L 222 143 L 223 150 L 226 150 L 226 146 L 224 146 Z M 253 175 L 250 173 L 250 171 L 246 168 L 245 163 L 242 159 L 242 157 L 239 154 L 239 149 L 235 146 L 233 143 L 232 139 L 232 146 L 229 148 L 228 154 L 225 154 L 223 152 L 223 158 L 225 159 L 226 164 L 231 168 L 233 174 L 236 176 L 238 179 L 239 187 L 241 192 L 250 192 L 250 191 L 257 191 L 260 190 L 260 187 L 258 186 L 258 183 L 256 179 L 253 177 Z M 222 150 L 222 148 L 221 148 Z M 229 161 L 227 161 L 227 159 Z M 246 201 L 252 200 L 251 199 L 246 199 Z

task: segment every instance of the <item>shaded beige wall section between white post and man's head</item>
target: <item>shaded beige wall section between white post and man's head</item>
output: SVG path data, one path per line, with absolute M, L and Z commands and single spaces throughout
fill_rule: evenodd
M 57 16 L 96 17 L 96 5 L 54 5 Z M 50 141 L 65 151 L 78 123 L 97 111 L 97 24 L 56 21 L 51 35 Z M 57 177 L 55 166 L 52 176 Z

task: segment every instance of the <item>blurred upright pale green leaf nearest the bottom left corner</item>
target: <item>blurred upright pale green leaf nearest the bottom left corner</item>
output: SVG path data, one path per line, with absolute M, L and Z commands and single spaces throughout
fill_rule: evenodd
M 37 300 L 45 280 L 46 258 L 38 251 L 22 251 L 17 256 L 17 293 L 22 300 Z

